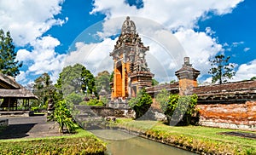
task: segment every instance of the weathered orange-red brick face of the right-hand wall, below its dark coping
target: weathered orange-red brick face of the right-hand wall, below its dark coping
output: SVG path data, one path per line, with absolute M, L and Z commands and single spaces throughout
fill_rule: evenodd
M 234 104 L 200 104 L 200 123 L 230 129 L 256 130 L 256 100 Z

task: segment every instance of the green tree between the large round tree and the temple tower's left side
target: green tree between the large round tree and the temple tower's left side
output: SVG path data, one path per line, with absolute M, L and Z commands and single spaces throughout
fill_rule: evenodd
M 110 74 L 108 71 L 99 72 L 96 77 L 96 90 L 100 92 L 102 89 L 105 89 L 110 93 Z

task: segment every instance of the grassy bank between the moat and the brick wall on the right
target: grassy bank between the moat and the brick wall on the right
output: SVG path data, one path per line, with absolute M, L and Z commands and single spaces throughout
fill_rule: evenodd
M 119 119 L 115 124 L 120 128 L 183 149 L 207 154 L 256 154 L 256 141 L 221 132 L 237 131 L 201 126 L 172 127 L 155 121 L 133 121 Z M 245 132 L 245 131 L 243 131 Z M 255 132 L 254 132 L 255 134 Z

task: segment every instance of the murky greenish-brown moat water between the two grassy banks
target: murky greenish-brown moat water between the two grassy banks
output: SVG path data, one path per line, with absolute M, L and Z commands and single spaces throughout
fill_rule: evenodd
M 120 130 L 96 129 L 91 130 L 102 141 L 107 143 L 108 155 L 191 155 L 182 149 L 167 146 L 160 142 L 150 141 L 135 135 L 127 134 Z

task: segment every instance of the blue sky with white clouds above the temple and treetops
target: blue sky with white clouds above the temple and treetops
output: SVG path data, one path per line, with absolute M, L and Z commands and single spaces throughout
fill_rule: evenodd
M 22 84 L 44 72 L 55 81 L 74 63 L 95 75 L 111 72 L 109 53 L 127 15 L 150 47 L 148 65 L 160 82 L 176 78 L 183 56 L 201 71 L 200 83 L 209 82 L 208 60 L 219 53 L 230 55 L 236 66 L 232 81 L 256 76 L 253 0 L 14 1 L 0 0 L 0 28 L 11 32 L 17 59 L 24 63 L 16 78 Z

